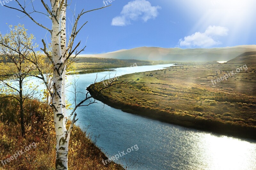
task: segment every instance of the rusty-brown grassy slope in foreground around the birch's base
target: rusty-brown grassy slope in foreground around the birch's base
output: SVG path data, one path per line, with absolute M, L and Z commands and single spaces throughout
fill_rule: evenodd
M 26 139 L 20 135 L 18 103 L 11 99 L 0 101 L 0 160 L 6 160 L 13 154 L 35 142 L 31 148 L 17 160 L 11 160 L 4 170 L 46 170 L 55 169 L 55 131 L 51 108 L 37 100 L 25 103 Z M 102 159 L 106 155 L 95 145 L 84 130 L 75 126 L 69 141 L 68 168 L 76 170 L 121 170 L 122 166 L 113 162 L 104 166 Z

